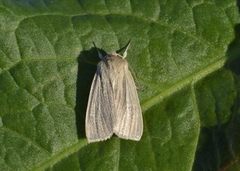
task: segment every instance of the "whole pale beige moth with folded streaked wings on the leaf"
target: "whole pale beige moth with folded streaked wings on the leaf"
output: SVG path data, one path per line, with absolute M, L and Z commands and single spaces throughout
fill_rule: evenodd
M 141 106 L 125 60 L 129 45 L 130 41 L 119 51 L 103 56 L 94 44 L 101 61 L 92 81 L 86 111 L 85 130 L 89 143 L 106 140 L 113 134 L 135 141 L 142 136 Z

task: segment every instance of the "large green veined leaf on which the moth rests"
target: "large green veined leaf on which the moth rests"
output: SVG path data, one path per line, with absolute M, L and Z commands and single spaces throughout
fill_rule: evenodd
M 0 170 L 192 170 L 201 130 L 230 122 L 237 20 L 234 0 L 1 0 Z M 87 144 L 92 42 L 129 39 L 143 137 Z

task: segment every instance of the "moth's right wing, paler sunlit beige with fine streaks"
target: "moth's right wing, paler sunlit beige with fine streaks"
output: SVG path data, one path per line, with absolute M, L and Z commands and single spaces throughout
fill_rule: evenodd
M 113 132 L 120 138 L 139 141 L 143 133 L 143 119 L 134 79 L 128 69 L 124 70 L 122 87 L 114 89 L 116 122 Z

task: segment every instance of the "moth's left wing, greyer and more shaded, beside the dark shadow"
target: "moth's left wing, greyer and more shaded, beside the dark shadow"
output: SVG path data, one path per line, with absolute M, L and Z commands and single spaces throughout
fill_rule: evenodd
M 100 62 L 95 73 L 85 120 L 88 142 L 106 140 L 113 134 L 113 91 L 109 71 L 104 62 Z

